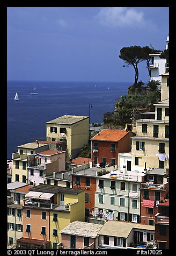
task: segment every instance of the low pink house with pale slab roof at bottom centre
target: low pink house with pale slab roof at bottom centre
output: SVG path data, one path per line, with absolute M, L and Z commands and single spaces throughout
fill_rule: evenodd
M 60 232 L 62 243 L 58 245 L 58 249 L 97 249 L 98 232 L 102 226 L 79 221 L 70 223 Z

